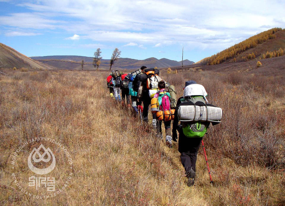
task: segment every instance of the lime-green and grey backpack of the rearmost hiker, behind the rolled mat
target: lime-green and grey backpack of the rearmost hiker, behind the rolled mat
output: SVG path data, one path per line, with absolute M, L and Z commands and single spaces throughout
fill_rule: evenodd
M 203 102 L 205 104 L 205 100 L 202 96 L 191 97 L 189 99 L 181 99 L 181 103 L 191 101 L 194 104 L 196 102 Z M 182 130 L 183 134 L 186 137 L 204 137 L 207 132 L 207 129 L 210 125 L 210 122 L 182 122 Z

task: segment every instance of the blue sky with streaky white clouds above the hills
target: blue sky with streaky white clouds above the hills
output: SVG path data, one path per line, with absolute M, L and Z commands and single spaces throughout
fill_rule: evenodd
M 270 28 L 285 28 L 285 1 L 0 0 L 0 42 L 26 56 L 197 62 Z

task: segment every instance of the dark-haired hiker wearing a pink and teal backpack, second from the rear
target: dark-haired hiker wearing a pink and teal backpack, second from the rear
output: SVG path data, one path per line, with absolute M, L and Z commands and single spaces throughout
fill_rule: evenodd
M 159 110 L 161 111 L 170 111 L 170 99 L 169 96 L 166 94 L 165 91 L 165 81 L 162 80 L 158 83 L 158 90 L 157 93 L 153 96 L 153 98 L 161 98 L 161 105 L 159 105 Z M 170 94 L 169 94 L 170 95 Z M 159 121 L 158 119 L 153 119 L 156 120 L 156 127 L 157 127 L 157 133 L 158 133 L 158 137 L 162 139 L 163 135 L 162 135 L 162 121 Z M 164 121 L 164 128 L 165 128 L 165 134 L 166 134 L 166 138 L 165 138 L 165 142 L 166 145 L 170 148 L 172 148 L 172 137 L 171 137 L 171 117 L 170 119 L 167 119 L 168 121 Z M 153 121 L 154 122 L 154 121 Z

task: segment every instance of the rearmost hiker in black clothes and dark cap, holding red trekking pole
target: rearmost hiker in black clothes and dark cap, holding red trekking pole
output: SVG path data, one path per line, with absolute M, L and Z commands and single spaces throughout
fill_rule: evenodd
M 187 104 L 187 102 L 192 102 L 192 104 L 196 102 L 202 102 L 203 104 L 205 104 L 205 100 L 207 102 L 206 96 L 208 94 L 205 91 L 205 88 L 202 85 L 197 84 L 194 80 L 186 81 L 185 87 L 183 89 L 184 89 L 183 97 L 180 97 L 178 99 L 174 113 L 172 140 L 177 142 L 177 130 L 178 130 L 179 132 L 178 151 L 181 153 L 180 155 L 181 163 L 185 169 L 185 176 L 188 178 L 187 185 L 192 186 L 194 184 L 194 179 L 196 174 L 195 172 L 196 172 L 197 153 L 200 148 L 202 137 L 186 136 L 186 134 L 188 134 L 187 129 L 191 130 L 192 125 L 196 124 L 196 122 L 194 122 L 194 124 L 193 122 L 192 123 L 181 122 L 182 125 L 181 124 L 178 125 L 179 120 L 178 120 L 177 110 L 179 105 Z M 189 124 L 192 124 L 191 127 L 189 127 Z M 205 126 L 208 128 L 210 123 L 206 122 L 205 124 L 206 124 Z M 202 123 L 200 127 L 202 128 Z

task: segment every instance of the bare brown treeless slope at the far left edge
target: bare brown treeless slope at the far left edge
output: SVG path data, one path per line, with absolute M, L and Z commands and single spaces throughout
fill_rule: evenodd
M 53 69 L 51 66 L 45 65 L 39 61 L 35 61 L 15 49 L 0 43 L 0 57 L 5 65 L 5 68 L 19 69 L 25 67 L 27 69 Z

